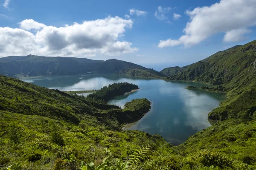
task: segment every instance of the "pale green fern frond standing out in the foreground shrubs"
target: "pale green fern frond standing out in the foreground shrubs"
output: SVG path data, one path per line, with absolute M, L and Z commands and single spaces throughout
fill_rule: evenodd
M 141 164 L 141 161 L 143 161 L 143 156 L 145 156 L 149 150 L 149 144 L 146 144 L 145 147 L 142 146 L 142 148 L 139 147 L 139 149 L 136 149 L 133 154 L 130 155 L 128 162 L 131 164 Z

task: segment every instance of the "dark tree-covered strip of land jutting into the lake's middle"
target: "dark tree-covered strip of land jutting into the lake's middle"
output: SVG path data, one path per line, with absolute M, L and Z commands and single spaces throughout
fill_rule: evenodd
M 137 85 L 128 82 L 113 83 L 111 85 L 104 86 L 93 94 L 89 94 L 86 99 L 92 102 L 107 103 L 116 96 L 121 96 L 136 89 L 139 89 Z

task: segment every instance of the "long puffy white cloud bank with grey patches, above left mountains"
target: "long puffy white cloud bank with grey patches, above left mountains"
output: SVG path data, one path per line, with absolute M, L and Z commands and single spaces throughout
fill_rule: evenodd
M 0 27 L 0 54 L 95 56 L 121 55 L 137 51 L 131 42 L 119 41 L 132 20 L 106 17 L 64 27 L 46 26 L 34 20 L 23 20 L 20 28 Z M 35 34 L 29 30 L 37 30 Z

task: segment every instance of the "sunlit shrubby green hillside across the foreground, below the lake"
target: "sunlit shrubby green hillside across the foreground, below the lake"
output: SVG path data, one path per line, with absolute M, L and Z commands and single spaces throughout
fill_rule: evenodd
M 175 147 L 159 135 L 121 131 L 149 111 L 147 99 L 120 109 L 14 78 L 0 82 L 0 169 L 81 170 L 94 168 L 90 162 L 96 170 L 256 168 L 255 116 L 219 121 Z

